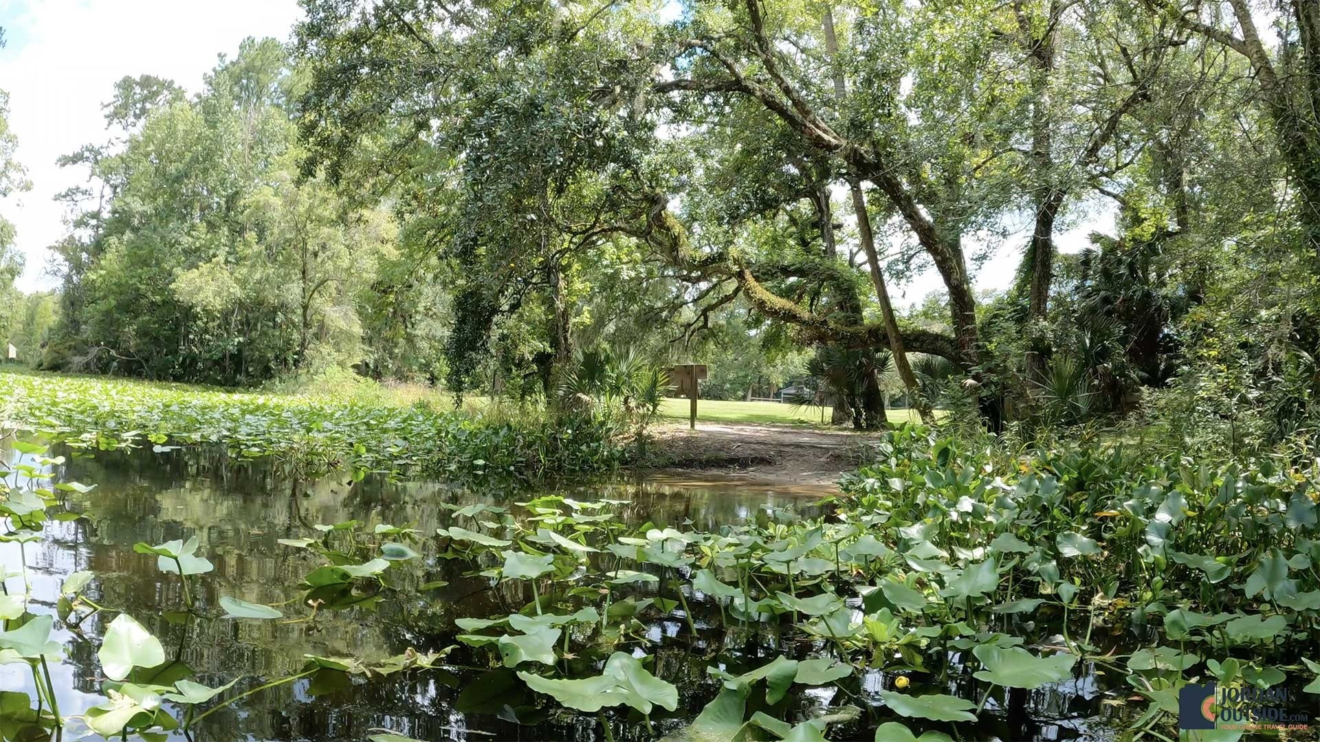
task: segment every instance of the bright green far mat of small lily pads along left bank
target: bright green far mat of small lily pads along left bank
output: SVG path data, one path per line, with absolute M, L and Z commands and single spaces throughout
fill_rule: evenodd
M 218 444 L 240 459 L 271 457 L 297 474 L 335 469 L 535 481 L 619 463 L 612 425 L 582 416 L 492 421 L 424 404 L 395 407 L 209 391 L 110 378 L 0 372 L 0 428 L 73 449 Z

